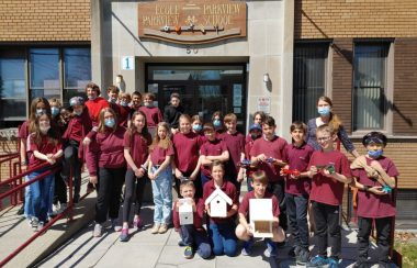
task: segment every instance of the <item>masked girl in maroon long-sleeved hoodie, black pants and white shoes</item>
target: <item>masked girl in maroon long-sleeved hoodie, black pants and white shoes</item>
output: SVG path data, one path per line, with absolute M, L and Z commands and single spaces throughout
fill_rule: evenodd
M 104 108 L 99 114 L 97 135 L 92 138 L 86 153 L 86 163 L 90 182 L 98 185 L 95 204 L 94 237 L 103 233 L 103 223 L 108 215 L 112 227 L 117 231 L 120 199 L 126 172 L 123 156 L 125 130 L 117 124 L 115 112 Z

